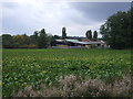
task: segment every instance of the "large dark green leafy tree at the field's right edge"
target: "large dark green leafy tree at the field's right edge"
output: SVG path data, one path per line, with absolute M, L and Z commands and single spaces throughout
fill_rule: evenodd
M 131 11 L 117 12 L 101 25 L 102 37 L 112 48 L 131 47 Z M 133 30 L 133 29 L 132 29 Z

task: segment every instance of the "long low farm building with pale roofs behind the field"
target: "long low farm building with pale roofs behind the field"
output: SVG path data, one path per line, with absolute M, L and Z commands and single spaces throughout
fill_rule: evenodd
M 61 48 L 91 48 L 91 47 L 105 47 L 106 44 L 103 41 L 78 41 L 78 40 L 55 40 L 53 47 Z

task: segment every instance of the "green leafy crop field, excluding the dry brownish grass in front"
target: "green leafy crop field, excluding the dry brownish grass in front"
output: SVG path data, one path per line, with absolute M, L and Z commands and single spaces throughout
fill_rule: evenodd
M 3 50 L 2 95 L 13 97 L 28 86 L 60 88 L 59 80 L 69 76 L 111 84 L 130 73 L 131 52 L 126 50 Z

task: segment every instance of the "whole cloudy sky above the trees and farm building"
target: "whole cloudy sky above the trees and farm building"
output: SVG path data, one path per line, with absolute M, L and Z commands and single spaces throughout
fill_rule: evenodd
M 0 33 L 32 35 L 34 31 L 45 29 L 49 34 L 61 35 L 62 28 L 65 26 L 69 36 L 85 36 L 88 30 L 99 32 L 110 15 L 130 10 L 131 3 L 27 0 L 2 2 L 0 8 L 2 9 Z

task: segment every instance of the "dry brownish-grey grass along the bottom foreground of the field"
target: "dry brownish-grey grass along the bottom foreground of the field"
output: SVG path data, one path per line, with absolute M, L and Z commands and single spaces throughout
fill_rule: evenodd
M 131 91 L 131 76 L 126 76 L 114 86 L 106 85 L 101 79 L 82 79 L 75 75 L 69 75 L 59 79 L 60 87 L 47 87 L 40 85 L 40 90 L 27 86 L 19 90 L 16 97 L 129 97 Z M 132 97 L 132 96 L 131 96 Z

